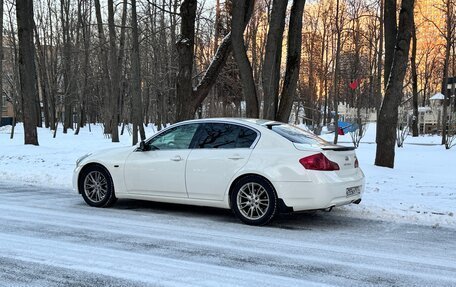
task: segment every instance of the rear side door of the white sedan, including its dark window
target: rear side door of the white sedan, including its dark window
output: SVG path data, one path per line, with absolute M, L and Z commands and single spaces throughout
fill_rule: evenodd
M 223 200 L 233 176 L 247 163 L 258 136 L 257 131 L 240 125 L 202 124 L 187 159 L 189 198 Z

